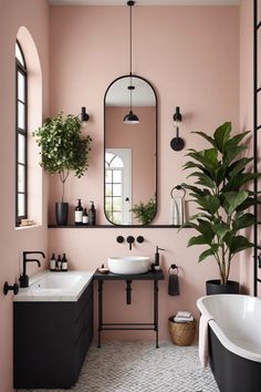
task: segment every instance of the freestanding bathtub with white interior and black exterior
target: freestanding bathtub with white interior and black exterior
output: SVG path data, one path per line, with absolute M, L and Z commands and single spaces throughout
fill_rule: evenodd
M 241 295 L 199 298 L 209 321 L 209 364 L 220 392 L 261 391 L 261 299 Z

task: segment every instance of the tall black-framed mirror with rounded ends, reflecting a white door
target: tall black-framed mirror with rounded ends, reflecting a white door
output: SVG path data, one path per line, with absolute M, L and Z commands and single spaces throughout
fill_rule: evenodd
M 147 225 L 157 210 L 157 97 L 140 76 L 121 76 L 104 97 L 104 209 L 115 225 Z

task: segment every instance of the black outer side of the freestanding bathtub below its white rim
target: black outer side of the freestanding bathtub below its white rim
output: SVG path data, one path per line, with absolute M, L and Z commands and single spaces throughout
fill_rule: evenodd
M 210 327 L 209 364 L 220 392 L 261 391 L 261 363 L 226 349 Z

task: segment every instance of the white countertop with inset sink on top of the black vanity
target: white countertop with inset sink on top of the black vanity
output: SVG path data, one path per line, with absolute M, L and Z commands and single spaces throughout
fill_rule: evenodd
M 28 288 L 19 288 L 15 302 L 77 301 L 95 271 L 51 272 L 44 270 L 29 278 Z M 56 287 L 58 286 L 58 287 Z

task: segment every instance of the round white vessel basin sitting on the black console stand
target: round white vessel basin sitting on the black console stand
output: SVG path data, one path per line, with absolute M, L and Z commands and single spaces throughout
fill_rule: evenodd
M 113 274 L 146 274 L 150 269 L 150 258 L 144 256 L 109 257 L 108 270 Z

